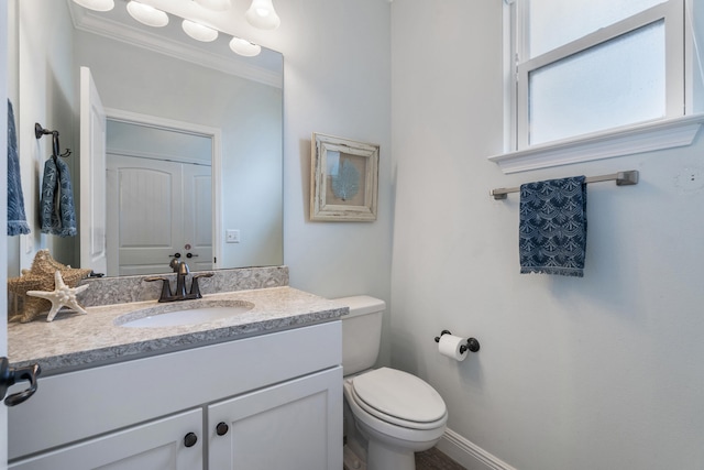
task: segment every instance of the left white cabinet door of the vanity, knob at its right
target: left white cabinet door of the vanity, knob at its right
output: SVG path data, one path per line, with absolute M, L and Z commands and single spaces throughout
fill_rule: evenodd
M 70 426 L 70 423 L 66 423 L 66 426 Z M 202 411 L 198 408 L 21 460 L 10 464 L 10 469 L 202 469 L 201 429 Z M 197 437 L 190 447 L 185 445 L 188 433 Z

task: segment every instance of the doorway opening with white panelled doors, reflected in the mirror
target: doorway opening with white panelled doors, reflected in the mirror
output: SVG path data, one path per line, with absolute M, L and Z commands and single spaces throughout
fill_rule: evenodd
M 213 267 L 212 136 L 108 119 L 108 275 Z

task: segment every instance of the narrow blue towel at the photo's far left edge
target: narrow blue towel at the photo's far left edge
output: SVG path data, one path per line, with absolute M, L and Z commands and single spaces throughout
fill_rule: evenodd
M 20 176 L 20 155 L 18 154 L 18 134 L 14 127 L 14 111 L 8 100 L 8 236 L 29 233 L 24 214 L 24 195 Z

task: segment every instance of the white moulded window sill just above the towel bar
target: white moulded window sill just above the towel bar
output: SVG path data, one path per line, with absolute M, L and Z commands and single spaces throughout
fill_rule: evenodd
M 704 113 L 590 134 L 490 156 L 505 174 L 691 145 Z

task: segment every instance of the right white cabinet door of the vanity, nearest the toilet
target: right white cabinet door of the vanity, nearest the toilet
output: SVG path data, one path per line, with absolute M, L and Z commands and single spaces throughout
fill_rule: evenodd
M 342 368 L 211 405 L 208 425 L 210 469 L 339 470 Z

